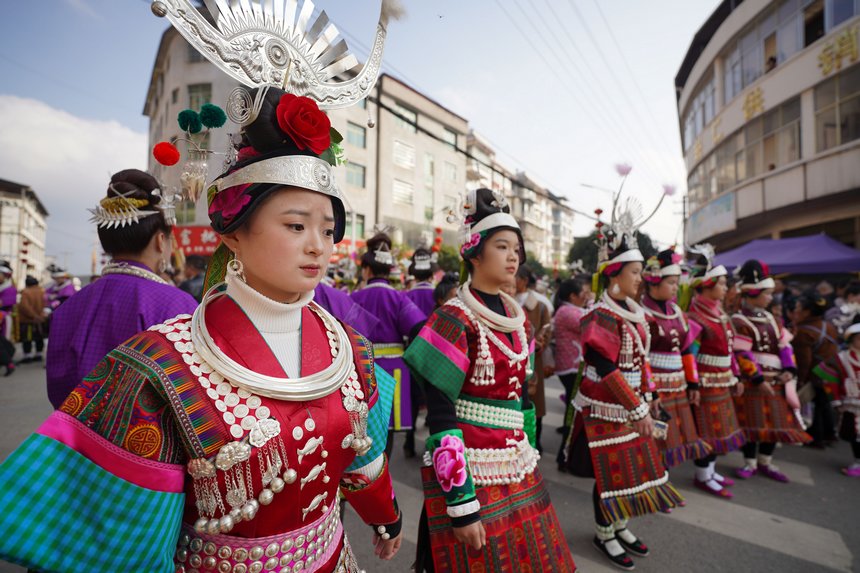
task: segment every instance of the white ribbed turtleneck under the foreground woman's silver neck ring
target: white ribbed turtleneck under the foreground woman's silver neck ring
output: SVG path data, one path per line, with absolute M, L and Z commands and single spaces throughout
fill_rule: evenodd
M 302 309 L 314 298 L 305 293 L 294 303 L 274 301 L 238 279 L 227 281 L 227 295 L 260 331 L 289 378 L 302 371 Z

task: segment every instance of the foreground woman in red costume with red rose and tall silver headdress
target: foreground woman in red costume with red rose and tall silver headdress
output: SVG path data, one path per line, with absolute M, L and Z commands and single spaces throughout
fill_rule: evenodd
M 212 43 L 229 47 L 192 4 L 179 6 L 153 9 L 208 57 L 222 53 Z M 261 10 L 234 25 L 262 46 L 302 42 L 268 32 L 274 15 Z M 385 22 L 383 12 L 375 54 Z M 192 33 L 201 29 L 206 42 Z M 284 53 L 262 46 L 260 66 Z M 315 69 L 306 48 L 287 52 L 303 81 Z M 317 80 L 346 105 L 372 88 L 370 65 L 356 78 L 363 92 Z M 193 316 L 112 350 L 0 466 L 0 558 L 48 571 L 357 572 L 339 495 L 371 525 L 379 557 L 397 551 L 383 453 L 393 385 L 367 339 L 313 302 L 346 222 L 328 117 L 275 86 L 236 98 L 243 147 L 207 193 L 222 238 L 215 284 Z

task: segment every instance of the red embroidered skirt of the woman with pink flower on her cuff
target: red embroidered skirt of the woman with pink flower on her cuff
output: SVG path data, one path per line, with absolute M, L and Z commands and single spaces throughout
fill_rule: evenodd
M 537 469 L 519 483 L 477 488 L 487 544 L 475 550 L 454 537 L 433 468 L 421 469 L 424 509 L 436 573 L 573 573 L 576 565 Z

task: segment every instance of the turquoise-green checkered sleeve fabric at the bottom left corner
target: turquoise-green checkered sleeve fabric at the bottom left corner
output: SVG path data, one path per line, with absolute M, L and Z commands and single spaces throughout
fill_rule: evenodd
M 185 495 L 148 490 L 33 434 L 0 466 L 0 558 L 61 573 L 173 573 Z

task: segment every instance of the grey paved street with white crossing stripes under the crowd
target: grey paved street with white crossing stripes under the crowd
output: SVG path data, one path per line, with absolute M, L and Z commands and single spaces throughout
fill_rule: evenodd
M 41 365 L 24 365 L 10 378 L 0 378 L 0 459 L 5 459 L 50 413 L 44 372 Z M 560 474 L 555 468 L 559 444 L 555 427 L 562 416 L 560 391 L 557 379 L 548 381 L 550 413 L 544 420 L 547 454 L 541 469 L 580 570 L 614 571 L 591 547 L 591 483 Z M 354 513 L 347 516 L 353 546 L 369 573 L 406 572 L 412 563 L 422 498 L 419 461 L 405 460 L 401 445 L 402 438 L 395 442 L 391 463 L 406 519 L 405 542 L 397 557 L 385 563 L 376 560 L 369 528 Z M 860 480 L 852 481 L 838 471 L 850 457 L 847 445 L 826 451 L 784 447 L 775 457 L 792 483 L 753 478 L 733 488 L 735 499 L 731 502 L 694 490 L 692 464 L 674 470 L 673 482 L 686 497 L 687 507 L 671 515 L 638 519 L 631 525 L 652 549 L 650 557 L 637 560 L 637 570 L 860 571 L 860 555 L 856 554 L 860 552 Z M 739 455 L 732 455 L 721 460 L 719 468 L 727 473 L 740 461 Z M 0 562 L 0 572 L 13 571 L 23 569 Z

